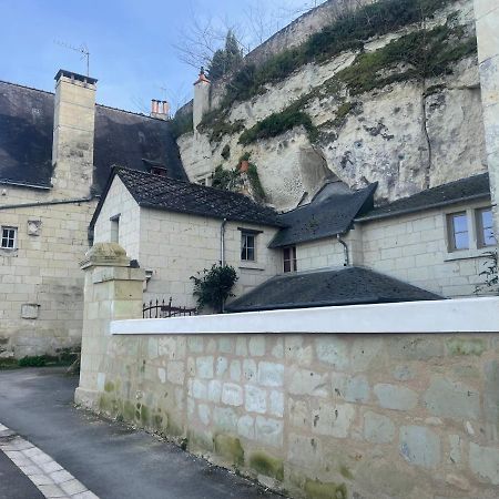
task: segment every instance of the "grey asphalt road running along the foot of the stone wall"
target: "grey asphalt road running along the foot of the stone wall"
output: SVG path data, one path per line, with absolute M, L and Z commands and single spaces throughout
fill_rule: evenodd
M 0 371 L 0 422 L 101 499 L 281 498 L 144 431 L 75 409 L 77 385 L 57 368 Z M 0 499 L 40 497 L 0 451 Z

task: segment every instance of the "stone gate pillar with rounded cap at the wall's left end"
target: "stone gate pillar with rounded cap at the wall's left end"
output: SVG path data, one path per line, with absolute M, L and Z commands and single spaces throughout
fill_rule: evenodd
M 96 409 L 104 390 L 111 320 L 142 318 L 145 272 L 131 268 L 118 243 L 96 243 L 80 264 L 85 273 L 80 386 L 74 401 Z

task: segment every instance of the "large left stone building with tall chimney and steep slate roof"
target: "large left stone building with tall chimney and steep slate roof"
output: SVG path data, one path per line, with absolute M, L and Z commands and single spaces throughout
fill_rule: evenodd
M 113 164 L 184 179 L 164 114 L 95 104 L 68 71 L 55 94 L 0 81 L 0 358 L 81 342 L 88 226 Z

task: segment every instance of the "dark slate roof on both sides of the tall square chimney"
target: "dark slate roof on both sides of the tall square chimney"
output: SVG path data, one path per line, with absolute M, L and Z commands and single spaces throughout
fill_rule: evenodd
M 0 81 L 0 183 L 51 186 L 53 102 L 51 92 Z M 113 164 L 147 170 L 143 159 L 186 179 L 167 121 L 98 104 L 93 192 Z

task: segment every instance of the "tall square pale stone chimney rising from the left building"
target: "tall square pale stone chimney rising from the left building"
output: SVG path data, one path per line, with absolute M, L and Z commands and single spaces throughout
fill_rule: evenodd
M 59 195 L 90 195 L 95 122 L 94 78 L 60 70 L 55 74 L 52 184 Z

